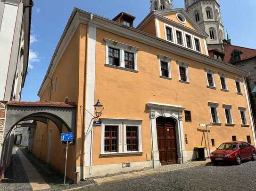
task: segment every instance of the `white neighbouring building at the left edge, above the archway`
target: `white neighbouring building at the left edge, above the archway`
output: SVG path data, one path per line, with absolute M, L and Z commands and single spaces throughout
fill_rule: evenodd
M 0 1 L 0 103 L 19 101 L 28 67 L 32 0 Z M 4 122 L 5 114 L 0 121 Z M 0 134 L 3 128 L 0 127 Z M 0 152 L 1 152 L 0 140 Z

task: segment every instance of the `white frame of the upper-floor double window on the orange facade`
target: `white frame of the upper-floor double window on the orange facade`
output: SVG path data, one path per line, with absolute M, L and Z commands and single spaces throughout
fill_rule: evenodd
M 130 46 L 130 45 L 126 45 L 120 42 L 116 42 L 114 40 L 110 40 L 107 38 L 104 38 L 104 41 L 106 43 L 106 65 L 107 66 L 114 66 L 117 68 L 124 68 L 124 69 L 128 69 L 125 68 L 125 61 L 124 61 L 124 52 L 129 52 L 129 53 L 133 53 L 134 54 L 134 69 L 128 69 L 128 70 L 135 70 L 138 71 L 138 50 L 139 48 L 134 47 L 134 46 Z M 115 48 L 120 50 L 120 66 L 115 66 L 115 65 L 111 65 L 109 64 L 109 58 L 108 58 L 108 48 Z

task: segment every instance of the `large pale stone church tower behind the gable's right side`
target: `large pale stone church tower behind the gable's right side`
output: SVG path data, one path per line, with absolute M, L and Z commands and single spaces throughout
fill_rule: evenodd
M 185 10 L 209 35 L 208 50 L 223 53 L 224 26 L 218 0 L 184 0 Z

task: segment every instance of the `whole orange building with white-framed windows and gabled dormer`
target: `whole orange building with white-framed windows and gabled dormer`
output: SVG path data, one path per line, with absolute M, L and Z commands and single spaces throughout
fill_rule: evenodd
M 41 84 L 41 101 L 77 106 L 69 178 L 185 163 L 200 145 L 256 143 L 248 72 L 207 56 L 208 35 L 184 9 L 152 11 L 136 28 L 127 17 L 75 8 Z M 105 109 L 93 126 L 98 99 Z M 210 148 L 199 123 L 213 124 Z M 33 153 L 64 172 L 64 151 L 55 124 L 38 122 Z

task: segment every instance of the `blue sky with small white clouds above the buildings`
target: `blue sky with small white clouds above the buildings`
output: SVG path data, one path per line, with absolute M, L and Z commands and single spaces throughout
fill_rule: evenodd
M 30 62 L 22 92 L 23 101 L 39 100 L 37 92 L 52 54 L 74 7 L 107 18 L 121 11 L 136 16 L 135 25 L 149 13 L 150 0 L 33 0 Z M 256 0 L 219 0 L 225 30 L 233 45 L 256 49 Z M 183 0 L 173 0 L 184 8 Z

